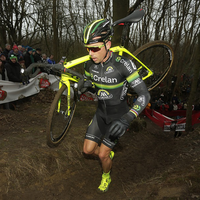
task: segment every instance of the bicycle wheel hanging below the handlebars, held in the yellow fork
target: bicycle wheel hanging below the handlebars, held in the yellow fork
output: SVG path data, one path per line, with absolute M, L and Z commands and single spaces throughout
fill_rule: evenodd
M 60 109 L 58 111 L 59 101 L 60 101 Z M 71 95 L 70 115 L 68 116 L 67 86 L 62 85 L 62 87 L 56 93 L 55 98 L 51 104 L 51 108 L 47 119 L 46 139 L 47 139 L 47 145 L 49 147 L 57 147 L 67 134 L 75 113 L 76 102 L 77 102 L 76 96 Z

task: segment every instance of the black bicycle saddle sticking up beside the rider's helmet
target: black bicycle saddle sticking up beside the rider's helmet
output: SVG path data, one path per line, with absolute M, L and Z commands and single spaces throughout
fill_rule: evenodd
M 116 26 L 120 23 L 137 23 L 142 19 L 143 16 L 144 16 L 144 10 L 143 9 L 135 10 L 134 12 L 132 12 L 127 17 L 124 17 L 122 19 L 115 21 L 113 23 L 113 26 Z

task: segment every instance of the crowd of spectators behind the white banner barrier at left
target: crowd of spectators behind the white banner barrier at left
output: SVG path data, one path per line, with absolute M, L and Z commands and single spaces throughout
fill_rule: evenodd
M 53 55 L 47 57 L 41 48 L 6 44 L 4 49 L 0 47 L 0 80 L 22 82 L 21 68 L 36 62 L 55 64 Z

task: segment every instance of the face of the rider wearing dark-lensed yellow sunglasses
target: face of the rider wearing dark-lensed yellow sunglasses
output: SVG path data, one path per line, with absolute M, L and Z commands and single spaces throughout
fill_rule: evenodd
M 108 59 L 109 54 L 107 54 L 107 50 L 110 49 L 111 42 L 108 41 L 105 45 L 106 47 L 104 46 L 103 42 L 87 45 L 89 55 L 91 56 L 91 59 L 93 60 L 93 62 L 102 63 Z

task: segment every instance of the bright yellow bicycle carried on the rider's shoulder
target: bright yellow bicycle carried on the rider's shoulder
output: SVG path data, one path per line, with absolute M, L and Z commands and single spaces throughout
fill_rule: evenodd
M 148 90 L 154 89 L 166 77 L 174 60 L 174 52 L 171 45 L 164 41 L 149 42 L 131 53 L 124 47 L 127 31 L 133 23 L 139 22 L 144 15 L 142 9 L 136 10 L 130 15 L 117 20 L 112 25 L 123 25 L 121 44 L 112 47 L 110 51 L 119 55 L 126 54 L 137 66 L 138 73 L 145 81 Z M 90 60 L 90 56 L 83 56 L 78 59 L 66 62 L 63 65 L 48 65 L 42 63 L 32 64 L 27 74 L 33 67 L 44 67 L 48 73 L 60 74 L 59 90 L 51 104 L 46 127 L 46 140 L 49 147 L 58 146 L 69 131 L 77 101 L 80 100 L 80 86 L 84 79 L 82 74 L 70 68 Z M 38 68 L 40 70 L 40 68 Z M 35 76 L 39 71 L 36 70 Z M 130 97 L 132 94 L 129 94 Z

